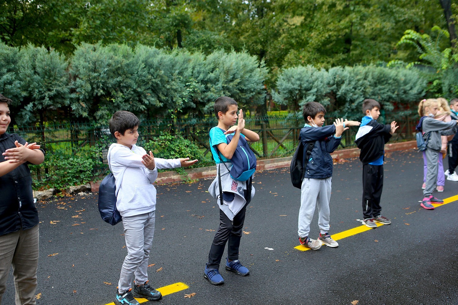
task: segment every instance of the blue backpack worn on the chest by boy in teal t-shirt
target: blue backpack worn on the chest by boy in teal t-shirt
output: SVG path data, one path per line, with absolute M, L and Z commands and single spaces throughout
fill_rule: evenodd
M 219 127 L 218 127 L 219 128 Z M 224 129 L 219 128 L 224 131 Z M 226 141 L 229 144 L 235 133 L 226 134 Z M 218 152 L 218 149 L 215 147 Z M 234 155 L 230 159 L 232 162 L 232 168 L 230 169 L 230 177 L 238 181 L 247 181 L 253 176 L 256 171 L 256 155 L 251 150 L 246 141 L 245 137 L 240 136 L 237 148 L 234 151 Z

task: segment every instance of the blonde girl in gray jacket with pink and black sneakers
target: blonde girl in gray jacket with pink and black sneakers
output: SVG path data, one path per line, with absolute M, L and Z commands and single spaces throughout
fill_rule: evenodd
M 439 152 L 441 151 L 441 135 L 455 134 L 457 131 L 457 120 L 450 122 L 443 122 L 434 119 L 439 104 L 436 99 L 422 100 L 418 105 L 418 114 L 420 115 L 420 123 L 417 129 L 423 133 L 426 145 L 426 188 L 423 190 L 424 198 L 421 202 L 421 207 L 424 209 L 434 209 L 431 203 L 444 203 L 443 200 L 438 199 L 432 195 L 434 185 L 437 180 Z

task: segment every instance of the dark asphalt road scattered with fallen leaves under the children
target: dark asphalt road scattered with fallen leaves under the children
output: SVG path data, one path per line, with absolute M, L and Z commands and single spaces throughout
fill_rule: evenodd
M 341 239 L 338 248 L 322 246 L 318 251 L 294 248 L 299 245 L 300 190 L 289 182 L 289 170 L 256 173 L 256 195 L 247 209 L 240 246 L 240 261 L 251 274 L 229 273 L 222 264 L 221 286 L 203 278 L 219 223 L 217 203 L 206 192 L 211 180 L 156 186 L 150 284 L 159 288 L 181 282 L 189 288 L 154 303 L 458 304 L 458 201 L 434 210 L 420 208 L 422 164 L 415 151 L 387 154 L 382 214 L 393 223 Z M 361 171 L 359 160 L 334 166 L 331 235 L 361 225 L 356 220 L 362 218 Z M 446 181 L 444 193 L 435 195 L 453 197 L 457 186 Z M 96 193 L 54 198 L 37 207 L 37 304 L 112 302 L 126 255 L 122 224 L 110 226 L 100 219 Z M 313 238 L 319 233 L 317 222 L 316 211 Z M 11 274 L 3 304 L 14 304 Z

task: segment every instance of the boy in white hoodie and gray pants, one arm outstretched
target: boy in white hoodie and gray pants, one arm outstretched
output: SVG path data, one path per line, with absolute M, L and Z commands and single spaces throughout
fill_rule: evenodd
M 160 300 L 162 295 L 147 284 L 148 258 L 153 243 L 156 210 L 156 188 L 153 182 L 158 169 L 191 166 L 189 158 L 154 158 L 136 146 L 140 121 L 128 111 L 118 111 L 110 119 L 109 128 L 117 143 L 110 145 L 108 164 L 116 179 L 116 207 L 124 225 L 127 256 L 122 264 L 115 304 L 137 305 L 137 298 Z M 135 274 L 133 289 L 132 278 Z

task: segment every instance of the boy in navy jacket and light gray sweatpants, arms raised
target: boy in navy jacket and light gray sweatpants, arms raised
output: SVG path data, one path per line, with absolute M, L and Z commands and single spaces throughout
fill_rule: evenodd
M 333 125 L 322 127 L 326 109 L 317 102 L 304 105 L 304 128 L 300 129 L 299 140 L 304 147 L 314 142 L 311 155 L 305 167 L 305 176 L 300 191 L 300 209 L 298 234 L 301 245 L 318 250 L 322 244 L 337 247 L 338 243 L 331 238 L 329 227 L 329 200 L 331 199 L 331 177 L 333 175 L 333 158 L 331 154 L 340 144 L 344 130 L 349 126 L 358 126 L 360 122 L 336 119 Z M 345 127 L 345 125 L 347 127 Z M 306 150 L 304 150 L 305 161 Z M 305 162 L 303 162 L 305 164 Z M 318 207 L 318 240 L 309 237 L 310 224 Z

